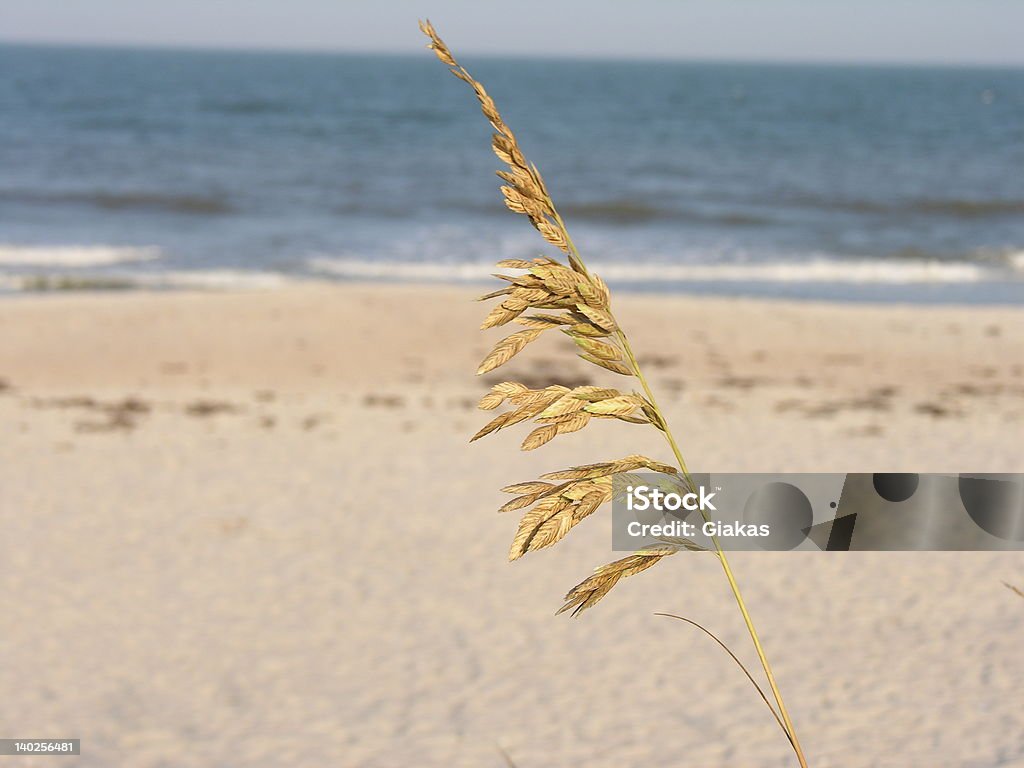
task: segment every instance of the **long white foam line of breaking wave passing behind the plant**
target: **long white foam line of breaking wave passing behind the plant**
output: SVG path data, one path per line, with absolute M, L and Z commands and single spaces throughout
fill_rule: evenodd
M 1022 254 L 1024 257 L 1024 254 Z M 314 272 L 365 280 L 431 282 L 478 281 L 495 271 L 486 263 L 395 263 L 360 259 L 310 259 Z M 1021 266 L 1024 267 L 1024 258 Z M 998 279 L 998 272 L 964 261 L 826 260 L 765 263 L 671 264 L 657 262 L 593 262 L 607 280 L 622 283 L 847 283 L 900 285 L 913 283 L 980 283 Z

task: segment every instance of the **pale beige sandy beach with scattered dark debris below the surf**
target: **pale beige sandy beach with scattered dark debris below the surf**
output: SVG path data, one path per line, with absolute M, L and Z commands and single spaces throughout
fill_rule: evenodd
M 33 765 L 788 766 L 717 564 L 597 608 L 606 513 L 510 565 L 498 487 L 641 452 L 598 424 L 469 445 L 474 289 L 0 302 L 0 724 Z M 1024 312 L 627 296 L 690 464 L 1021 471 Z M 499 378 L 602 380 L 545 339 Z M 490 381 L 496 380 L 490 377 Z M 1024 766 L 1012 554 L 746 554 L 812 765 Z M 16 765 L 25 761 L 7 759 Z

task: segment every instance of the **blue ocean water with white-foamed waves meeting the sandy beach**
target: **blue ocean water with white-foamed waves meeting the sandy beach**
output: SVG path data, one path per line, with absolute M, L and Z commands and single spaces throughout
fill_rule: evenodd
M 1024 303 L 1024 70 L 464 58 L 613 287 Z M 0 46 L 0 291 L 477 281 L 488 143 L 427 51 Z

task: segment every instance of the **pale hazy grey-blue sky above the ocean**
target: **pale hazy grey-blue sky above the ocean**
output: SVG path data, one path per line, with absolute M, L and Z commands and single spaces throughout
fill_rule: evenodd
M 1024 0 L 0 0 L 0 40 L 1024 66 Z

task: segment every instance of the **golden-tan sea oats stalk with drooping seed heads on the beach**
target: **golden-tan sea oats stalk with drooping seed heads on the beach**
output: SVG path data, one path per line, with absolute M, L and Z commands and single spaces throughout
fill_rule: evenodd
M 682 452 L 637 362 L 629 338 L 611 310 L 608 287 L 584 264 L 537 166 L 526 161 L 515 134 L 505 124 L 494 99 L 456 60 L 430 23 L 421 22 L 420 29 L 430 38 L 429 47 L 450 68 L 452 74 L 473 89 L 484 117 L 494 128 L 492 146 L 498 159 L 506 166 L 498 171 L 498 175 L 505 181 L 501 187 L 505 205 L 512 212 L 526 216 L 541 236 L 565 255 L 567 262 L 562 263 L 546 256 L 532 260 L 507 259 L 498 262 L 501 268 L 521 271 L 518 274 L 496 275 L 508 285 L 481 297 L 481 300 L 500 299 L 481 328 L 515 323 L 522 326 L 523 330 L 498 342 L 480 362 L 476 373 L 494 371 L 521 352 L 545 331 L 558 329 L 571 339 L 583 359 L 610 373 L 633 379 L 641 390 L 624 392 L 612 387 L 569 388 L 559 385 L 530 389 L 524 384 L 503 382 L 495 385 L 484 395 L 479 407 L 485 411 L 494 411 L 508 403 L 508 410 L 488 422 L 472 439 L 532 420 L 535 428 L 522 442 L 523 451 L 532 451 L 558 435 L 585 428 L 594 419 L 616 419 L 657 429 L 665 436 L 676 460 L 676 466 L 671 466 L 643 456 L 627 456 L 614 461 L 549 472 L 538 480 L 503 488 L 504 492 L 515 495 L 515 498 L 500 511 L 526 510 L 509 552 L 509 558 L 515 560 L 527 552 L 550 547 L 560 541 L 577 523 L 611 500 L 612 476 L 616 474 L 646 469 L 674 476 L 690 488 L 694 487 L 694 483 Z M 713 538 L 712 541 L 715 555 L 721 562 L 735 596 L 778 711 L 771 707 L 767 696 L 765 701 L 785 731 L 801 766 L 806 768 L 807 763 L 793 722 L 729 561 L 718 539 Z M 695 545 L 685 540 L 669 540 L 602 565 L 593 575 L 569 590 L 564 605 L 558 612 L 572 611 L 577 615 L 595 605 L 620 580 L 646 570 L 666 557 L 688 548 L 695 548 Z M 725 645 L 722 644 L 722 647 Z M 733 658 L 739 663 L 734 655 Z M 751 681 L 754 682 L 753 677 Z M 760 690 L 756 682 L 755 686 Z

